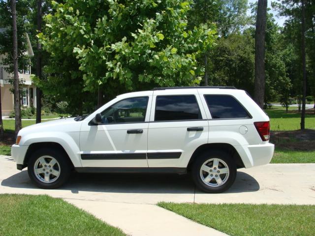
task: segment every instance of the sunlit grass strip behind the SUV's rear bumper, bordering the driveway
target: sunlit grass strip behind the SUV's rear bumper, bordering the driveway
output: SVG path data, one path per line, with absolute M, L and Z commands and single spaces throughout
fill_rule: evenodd
M 271 163 L 315 163 L 315 151 L 293 151 L 276 148 Z

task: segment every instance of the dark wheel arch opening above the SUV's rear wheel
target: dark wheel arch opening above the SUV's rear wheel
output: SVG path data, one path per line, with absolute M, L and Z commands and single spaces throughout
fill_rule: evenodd
M 243 160 L 237 150 L 230 144 L 227 143 L 211 143 L 211 144 L 203 144 L 199 146 L 191 155 L 187 169 L 188 171 L 191 170 L 192 163 L 198 158 L 198 156 L 209 150 L 220 150 L 220 151 L 225 151 L 228 154 L 232 156 L 232 158 L 235 160 L 237 169 L 239 168 L 244 168 L 245 165 L 243 163 Z

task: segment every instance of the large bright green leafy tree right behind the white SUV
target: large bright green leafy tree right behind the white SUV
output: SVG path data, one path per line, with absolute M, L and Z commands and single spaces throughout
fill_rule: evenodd
M 212 47 L 216 30 L 212 24 L 188 29 L 190 3 L 53 2 L 47 33 L 39 34 L 50 53 L 42 88 L 75 108 L 83 103 L 80 97 L 91 97 L 83 93 L 98 89 L 110 99 L 126 91 L 199 84 L 204 68 L 197 59 Z

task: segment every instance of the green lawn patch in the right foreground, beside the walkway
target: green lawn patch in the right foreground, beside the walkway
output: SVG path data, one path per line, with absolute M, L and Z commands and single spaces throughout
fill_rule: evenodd
M 313 236 L 315 206 L 175 204 L 158 206 L 232 236 Z

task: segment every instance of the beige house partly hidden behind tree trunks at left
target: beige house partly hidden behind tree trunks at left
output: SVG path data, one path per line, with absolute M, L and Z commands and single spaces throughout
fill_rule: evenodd
M 0 33 L 5 29 L 0 29 Z M 27 54 L 29 57 L 33 57 L 31 41 L 29 35 L 26 34 L 27 41 Z M 8 73 L 5 70 L 6 65 L 2 63 L 5 55 L 0 55 L 0 89 L 1 89 L 1 112 L 2 116 L 8 116 L 14 110 L 14 97 L 11 90 L 13 87 L 9 83 L 9 79 L 13 78 L 13 73 Z M 23 81 L 23 86 L 20 90 L 21 108 L 23 107 L 36 107 L 36 87 L 32 83 L 31 79 L 31 66 L 30 63 L 27 69 L 19 69 L 19 79 Z

